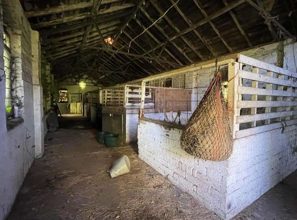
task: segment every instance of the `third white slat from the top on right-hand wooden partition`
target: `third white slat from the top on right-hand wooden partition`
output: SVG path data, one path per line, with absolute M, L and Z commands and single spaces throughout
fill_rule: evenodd
M 297 92 L 237 86 L 238 94 L 297 97 Z

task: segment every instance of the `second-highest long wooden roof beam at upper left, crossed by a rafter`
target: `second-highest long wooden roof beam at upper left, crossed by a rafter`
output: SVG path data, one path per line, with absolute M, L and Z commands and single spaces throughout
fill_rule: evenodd
M 113 7 L 110 7 L 108 9 L 101 9 L 101 10 L 99 10 L 99 12 L 97 12 L 97 15 L 104 15 L 104 14 L 107 14 L 107 13 L 123 10 L 123 9 L 130 8 L 130 7 L 133 7 L 133 6 L 135 6 L 135 4 L 128 3 L 128 4 L 123 4 L 121 6 L 113 6 Z M 54 20 L 50 20 L 50 21 L 39 22 L 37 24 L 32 25 L 31 27 L 32 27 L 32 29 L 44 28 L 44 27 L 48 27 L 48 26 L 52 26 L 52 25 L 65 23 L 65 22 L 81 20 L 81 19 L 90 17 L 90 15 L 91 15 L 90 12 L 82 13 L 82 14 L 79 14 L 79 15 L 71 15 L 71 16 L 68 16 L 68 17 L 65 17 L 65 18 L 58 18 L 58 19 L 54 19 Z

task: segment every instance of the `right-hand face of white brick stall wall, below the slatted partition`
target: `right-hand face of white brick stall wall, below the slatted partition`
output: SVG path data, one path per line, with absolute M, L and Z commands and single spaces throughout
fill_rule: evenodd
M 235 140 L 228 159 L 227 216 L 236 215 L 297 169 L 297 125 Z

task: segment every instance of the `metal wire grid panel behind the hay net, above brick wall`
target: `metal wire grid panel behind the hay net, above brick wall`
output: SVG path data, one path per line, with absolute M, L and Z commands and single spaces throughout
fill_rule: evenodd
M 216 72 L 221 75 L 222 92 L 227 102 L 228 64 L 223 64 L 182 74 L 177 72 L 168 77 L 147 81 L 145 93 L 150 95 L 150 100 L 144 101 L 144 116 L 187 124 Z

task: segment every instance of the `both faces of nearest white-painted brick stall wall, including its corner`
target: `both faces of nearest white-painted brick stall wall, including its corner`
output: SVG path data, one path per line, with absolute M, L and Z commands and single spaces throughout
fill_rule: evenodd
M 296 129 L 235 140 L 231 157 L 213 162 L 181 149 L 181 129 L 140 120 L 139 157 L 222 219 L 230 219 L 297 169 Z

